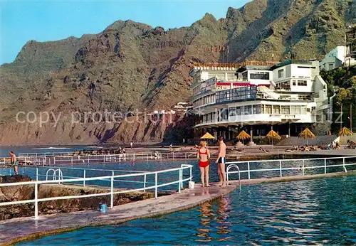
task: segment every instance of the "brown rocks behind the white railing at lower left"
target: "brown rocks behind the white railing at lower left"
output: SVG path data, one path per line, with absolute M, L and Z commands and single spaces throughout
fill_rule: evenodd
M 0 176 L 0 183 L 24 182 L 31 181 L 28 176 Z M 110 192 L 110 188 L 100 188 L 93 186 L 75 186 L 75 185 L 58 185 L 42 184 L 38 186 L 38 198 L 49 198 L 58 196 L 79 196 L 96 193 Z M 130 192 L 116 194 L 114 196 L 114 205 L 131 203 L 137 200 L 153 198 L 153 193 Z M 10 186 L 0 188 L 0 203 L 31 200 L 34 198 L 34 185 L 32 186 Z M 69 200 L 51 200 L 38 203 L 39 215 L 53 213 L 69 213 L 81 210 L 98 209 L 100 203 L 110 205 L 110 196 L 100 196 L 93 198 L 78 198 Z M 11 218 L 29 217 L 34 215 L 34 203 L 6 205 L 0 207 L 0 220 Z

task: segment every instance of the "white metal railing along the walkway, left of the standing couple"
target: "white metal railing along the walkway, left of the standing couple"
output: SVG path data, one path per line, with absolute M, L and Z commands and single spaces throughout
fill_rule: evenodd
M 16 204 L 23 204 L 23 203 L 34 203 L 35 204 L 35 219 L 38 219 L 38 203 L 43 201 L 49 200 L 66 200 L 66 199 L 75 199 L 75 198 L 89 198 L 89 197 L 97 197 L 97 196 L 110 196 L 110 208 L 113 208 L 113 198 L 115 194 L 120 193 L 129 193 L 134 191 L 147 191 L 147 190 L 155 190 L 155 198 L 158 197 L 158 188 L 164 186 L 171 186 L 178 183 L 179 186 L 179 193 L 183 188 L 183 184 L 185 181 L 192 181 L 192 165 L 184 164 L 176 169 L 167 169 L 161 171 L 152 171 L 152 172 L 143 172 L 143 173 L 130 173 L 130 174 L 123 174 L 123 175 L 112 175 L 112 176 L 100 176 L 100 177 L 85 177 L 85 178 L 69 178 L 64 180 L 47 180 L 47 181 L 28 181 L 28 182 L 18 182 L 18 183 L 0 183 L 0 187 L 9 187 L 9 186 L 27 186 L 27 185 L 34 185 L 35 186 L 35 196 L 34 199 L 30 200 L 16 200 L 11 202 L 2 202 L 0 206 L 4 205 L 16 205 Z M 189 178 L 183 179 L 183 172 L 184 170 L 189 169 L 190 175 Z M 158 175 L 159 173 L 168 173 L 172 171 L 179 171 L 178 180 L 169 181 L 167 183 L 158 183 Z M 155 176 L 155 185 L 142 187 L 142 188 L 133 188 L 130 190 L 125 191 L 114 191 L 114 181 L 115 178 L 127 178 L 127 177 L 139 177 L 142 176 L 145 180 L 147 176 L 154 175 Z M 98 181 L 98 180 L 110 180 L 110 192 L 105 193 L 95 193 L 95 194 L 88 194 L 88 195 L 78 195 L 78 196 L 60 196 L 60 197 L 51 197 L 51 198 L 38 198 L 38 185 L 46 184 L 46 183 L 62 183 L 63 181 L 66 183 L 73 183 L 73 182 L 85 182 L 85 181 Z

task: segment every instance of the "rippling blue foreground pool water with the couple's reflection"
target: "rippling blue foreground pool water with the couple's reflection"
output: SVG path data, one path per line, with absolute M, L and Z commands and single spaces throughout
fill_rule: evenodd
M 355 187 L 356 176 L 243 186 L 190 210 L 19 245 L 353 245 Z

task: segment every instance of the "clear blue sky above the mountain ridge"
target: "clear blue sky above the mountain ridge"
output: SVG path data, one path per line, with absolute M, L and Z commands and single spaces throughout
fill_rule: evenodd
M 11 63 L 29 40 L 55 41 L 99 33 L 114 21 L 131 19 L 150 26 L 190 26 L 206 12 L 224 18 L 229 6 L 248 0 L 179 1 L 6 1 L 0 0 L 0 64 Z

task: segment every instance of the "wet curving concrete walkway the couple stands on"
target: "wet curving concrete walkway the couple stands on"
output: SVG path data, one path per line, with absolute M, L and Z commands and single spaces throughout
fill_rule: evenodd
M 236 186 L 220 188 L 211 184 L 209 188 L 196 185 L 194 189 L 184 189 L 182 193 L 161 196 L 156 199 L 140 200 L 108 209 L 107 213 L 89 210 L 57 215 L 43 215 L 34 218 L 15 218 L 0 221 L 0 244 L 11 245 L 14 242 L 28 240 L 40 235 L 49 235 L 68 230 L 75 230 L 91 225 L 112 225 L 137 218 L 187 210 L 209 200 L 214 200 L 234 191 Z

